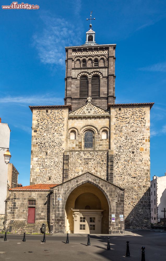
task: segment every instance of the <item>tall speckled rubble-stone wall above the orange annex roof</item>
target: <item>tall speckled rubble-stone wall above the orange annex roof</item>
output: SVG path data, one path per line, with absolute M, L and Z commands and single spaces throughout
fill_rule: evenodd
M 61 183 L 68 108 L 33 109 L 30 184 Z

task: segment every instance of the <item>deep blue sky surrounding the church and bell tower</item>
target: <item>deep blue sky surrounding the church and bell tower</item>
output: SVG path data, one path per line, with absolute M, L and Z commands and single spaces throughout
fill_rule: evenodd
M 11 162 L 29 184 L 29 105 L 64 104 L 65 46 L 85 42 L 90 10 L 98 44 L 116 43 L 116 103 L 151 109 L 151 177 L 166 171 L 165 0 L 27 1 L 39 10 L 2 10 L 0 117 L 11 129 Z M 27 3 L 26 2 L 26 3 Z M 21 3 L 21 2 L 18 2 Z M 91 3 L 91 4 L 89 4 Z M 11 1 L 1 1 L 10 5 Z

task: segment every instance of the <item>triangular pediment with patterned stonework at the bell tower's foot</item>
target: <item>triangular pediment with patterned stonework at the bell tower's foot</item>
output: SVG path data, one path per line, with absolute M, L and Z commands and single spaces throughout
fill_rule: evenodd
M 100 115 L 109 115 L 109 111 L 105 111 L 100 107 L 88 102 L 87 104 L 83 105 L 79 109 L 76 109 L 69 113 L 69 116 L 100 116 Z

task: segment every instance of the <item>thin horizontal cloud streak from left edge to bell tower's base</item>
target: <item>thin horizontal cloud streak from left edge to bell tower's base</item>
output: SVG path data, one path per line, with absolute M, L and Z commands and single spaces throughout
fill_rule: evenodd
M 0 98 L 0 103 L 10 103 L 10 104 L 28 104 L 28 105 L 35 105 L 35 104 L 63 104 L 62 98 L 52 97 L 49 94 L 43 96 L 6 96 Z

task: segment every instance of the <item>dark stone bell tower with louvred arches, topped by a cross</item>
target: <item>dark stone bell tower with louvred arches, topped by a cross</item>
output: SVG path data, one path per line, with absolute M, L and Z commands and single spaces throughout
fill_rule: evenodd
M 116 44 L 97 44 L 90 15 L 90 28 L 85 44 L 66 49 L 64 104 L 78 109 L 92 97 L 92 103 L 107 109 L 115 103 L 115 48 Z

